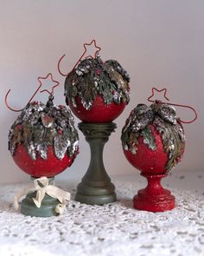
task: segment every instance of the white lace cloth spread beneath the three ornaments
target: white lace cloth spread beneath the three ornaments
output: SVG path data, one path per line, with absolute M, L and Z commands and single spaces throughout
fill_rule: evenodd
M 149 213 L 132 208 L 133 182 L 115 185 L 117 202 L 99 207 L 71 200 L 65 214 L 50 218 L 16 213 L 13 197 L 25 184 L 0 187 L 0 255 L 204 255 L 201 197 L 172 190 L 176 208 Z

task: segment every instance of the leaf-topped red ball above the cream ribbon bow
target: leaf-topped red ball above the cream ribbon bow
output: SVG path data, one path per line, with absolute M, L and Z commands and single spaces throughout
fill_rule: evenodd
M 78 153 L 78 133 L 66 107 L 31 102 L 10 128 L 9 148 L 16 165 L 39 178 L 70 167 Z

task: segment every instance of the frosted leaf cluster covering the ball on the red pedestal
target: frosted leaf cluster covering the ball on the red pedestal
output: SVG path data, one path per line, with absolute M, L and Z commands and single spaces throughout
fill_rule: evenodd
M 162 138 L 162 148 L 167 154 L 165 171 L 168 172 L 180 161 L 185 146 L 181 122 L 175 115 L 175 108 L 168 104 L 155 102 L 150 107 L 139 104 L 131 111 L 121 136 L 124 153 L 130 151 L 132 155 L 137 155 L 140 138 L 151 151 L 156 151 L 156 134 Z M 143 161 L 151 161 L 151 157 Z

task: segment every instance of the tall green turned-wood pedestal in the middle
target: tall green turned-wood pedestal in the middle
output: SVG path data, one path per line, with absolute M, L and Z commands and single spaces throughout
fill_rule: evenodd
M 104 205 L 116 200 L 115 186 L 105 171 L 103 149 L 115 128 L 114 122 L 80 122 L 79 128 L 91 148 L 91 161 L 85 176 L 77 187 L 75 200 L 90 205 Z

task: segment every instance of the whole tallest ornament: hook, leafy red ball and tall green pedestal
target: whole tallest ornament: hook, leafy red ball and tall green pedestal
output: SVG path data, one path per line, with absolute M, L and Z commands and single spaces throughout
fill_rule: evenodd
M 92 43 L 97 49 L 95 55 L 82 60 L 87 45 Z M 95 40 L 85 43 L 84 48 L 80 60 L 66 75 L 65 81 L 67 105 L 82 121 L 79 128 L 91 148 L 90 165 L 77 187 L 75 199 L 86 204 L 103 205 L 116 200 L 115 187 L 105 171 L 103 149 L 116 128 L 112 121 L 130 101 L 130 77 L 117 61 L 101 60 Z M 58 68 L 61 73 L 60 62 Z

